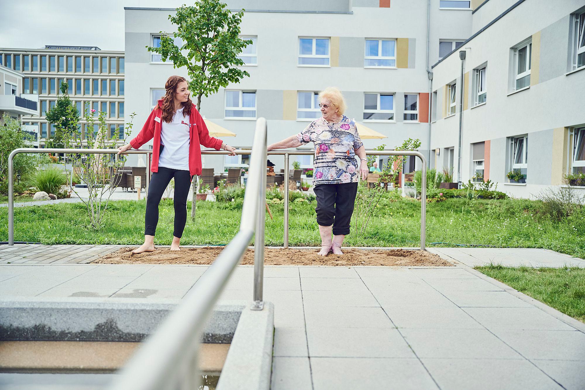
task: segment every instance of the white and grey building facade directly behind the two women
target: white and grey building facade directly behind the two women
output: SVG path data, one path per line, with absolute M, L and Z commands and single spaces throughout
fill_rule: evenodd
M 470 36 L 471 13 L 479 5 L 443 0 L 431 0 L 430 8 L 426 1 L 390 0 L 227 3 L 232 10 L 246 9 L 241 35 L 253 45 L 242 53 L 242 69 L 250 77 L 202 99 L 201 114 L 235 132 L 226 142 L 250 148 L 259 117 L 267 119 L 269 143 L 297 134 L 321 116 L 315 94 L 336 86 L 345 94 L 347 117 L 387 136 L 364 140 L 366 148 L 381 143 L 392 148 L 419 138 L 425 153 L 431 93 L 427 69 L 439 54 L 446 56 Z M 145 49 L 160 44 L 160 31 L 173 33 L 168 20 L 173 12 L 125 8 L 126 95 L 132 97 L 126 110 L 136 112 L 138 126 L 164 94 L 168 76 L 187 76 L 185 69 L 174 69 Z M 304 167 L 312 164 L 311 156 L 292 159 Z M 283 166 L 281 158 L 273 160 L 277 168 Z M 246 158 L 240 156 L 206 156 L 204 163 L 223 170 L 243 162 Z M 414 168 L 412 159 L 407 170 Z

